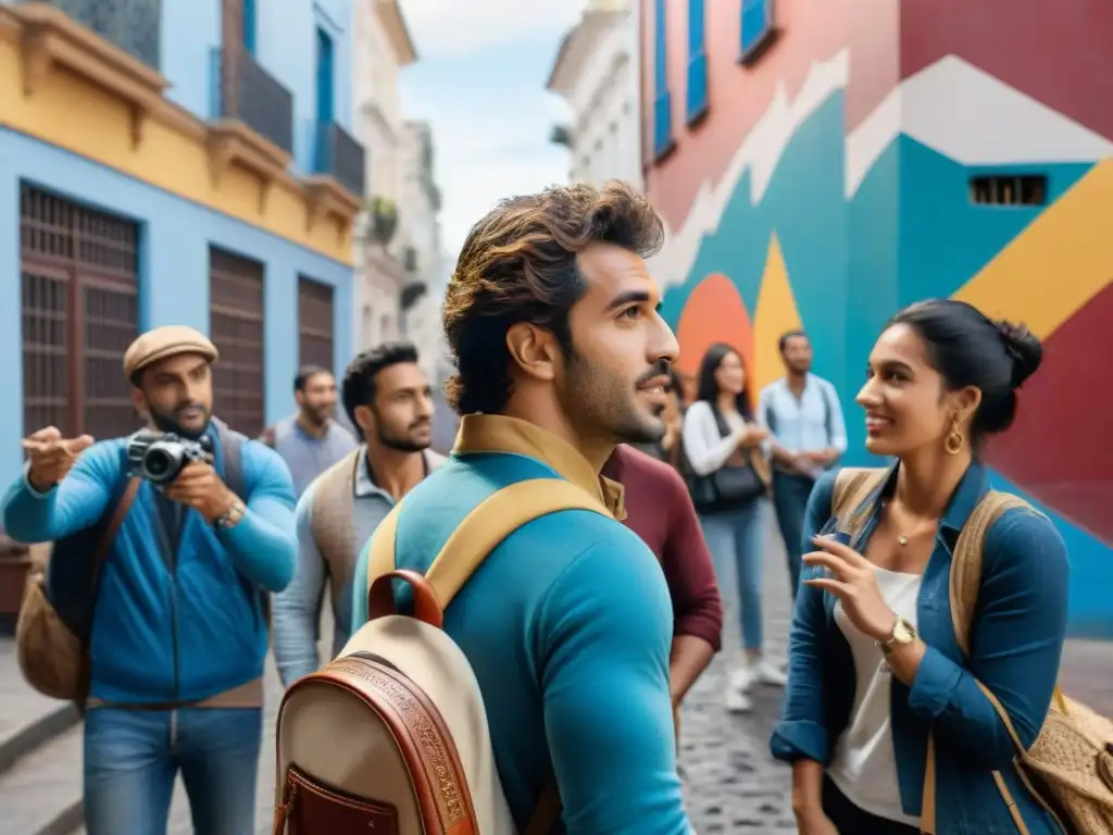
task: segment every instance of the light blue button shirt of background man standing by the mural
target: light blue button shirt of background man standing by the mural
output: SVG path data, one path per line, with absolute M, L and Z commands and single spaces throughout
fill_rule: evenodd
M 815 374 L 805 377 L 799 397 L 788 387 L 788 377 L 767 385 L 761 390 L 755 418 L 789 452 L 828 448 L 840 455 L 846 452 L 846 423 L 838 392 Z

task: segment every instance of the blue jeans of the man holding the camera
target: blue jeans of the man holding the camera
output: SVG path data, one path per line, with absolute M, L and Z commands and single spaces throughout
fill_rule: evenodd
M 165 835 L 180 769 L 196 835 L 253 835 L 262 743 L 258 708 L 90 709 L 86 832 Z

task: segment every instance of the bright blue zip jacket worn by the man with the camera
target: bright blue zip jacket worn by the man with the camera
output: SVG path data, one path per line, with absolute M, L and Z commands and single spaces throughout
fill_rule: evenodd
M 224 450 L 209 430 L 217 473 Z M 90 528 L 122 493 L 126 439 L 101 441 L 47 493 L 21 474 L 3 497 L 8 536 L 46 542 Z M 279 591 L 294 573 L 294 488 L 273 451 L 244 442 L 247 512 L 217 529 L 183 508 L 174 553 L 160 502 L 142 482 L 112 543 L 92 622 L 90 695 L 104 701 L 199 701 L 263 675 L 267 623 L 259 590 Z M 181 505 L 178 505 L 181 507 Z

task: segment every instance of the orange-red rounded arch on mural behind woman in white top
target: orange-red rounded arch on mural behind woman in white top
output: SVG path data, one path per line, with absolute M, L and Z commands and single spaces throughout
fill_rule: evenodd
M 677 371 L 688 379 L 689 395 L 696 393 L 695 377 L 703 354 L 717 342 L 740 352 L 746 374 L 751 376 L 754 324 L 738 289 L 722 273 L 712 273 L 696 285 L 680 314 L 677 341 L 680 343 Z M 755 394 L 752 385 L 750 394 Z

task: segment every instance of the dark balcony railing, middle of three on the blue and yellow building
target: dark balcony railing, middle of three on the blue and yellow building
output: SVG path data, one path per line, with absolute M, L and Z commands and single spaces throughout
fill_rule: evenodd
M 244 49 L 211 52 L 213 114 L 238 119 L 294 153 L 294 96 Z

